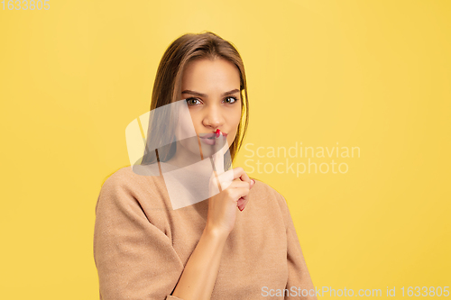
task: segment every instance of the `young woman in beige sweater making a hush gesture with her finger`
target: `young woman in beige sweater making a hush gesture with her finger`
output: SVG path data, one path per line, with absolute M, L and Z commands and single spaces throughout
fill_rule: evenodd
M 158 141 L 173 142 L 146 149 L 140 161 L 160 174 L 125 167 L 101 188 L 94 232 L 100 299 L 316 299 L 285 199 L 243 168 L 229 168 L 249 115 L 244 64 L 229 41 L 203 32 L 170 44 L 151 112 L 174 104 L 188 107 L 196 138 L 180 138 L 186 126 L 160 125 Z M 206 158 L 214 170 L 208 198 L 173 209 L 177 194 L 165 174 L 179 169 L 194 183 L 200 172 L 189 166 Z

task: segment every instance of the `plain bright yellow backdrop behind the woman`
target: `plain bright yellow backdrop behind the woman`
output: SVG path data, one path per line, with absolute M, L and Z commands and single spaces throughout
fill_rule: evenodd
M 250 174 L 287 199 L 314 285 L 451 286 L 450 2 L 50 5 L 0 10 L 0 298 L 98 299 L 100 186 L 163 51 L 204 30 L 244 59 L 245 143 L 361 150 L 345 174 Z

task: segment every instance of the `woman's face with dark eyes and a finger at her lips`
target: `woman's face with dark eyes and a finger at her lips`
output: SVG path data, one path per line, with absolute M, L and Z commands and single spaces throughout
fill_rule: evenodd
M 226 59 L 198 59 L 185 68 L 181 99 L 187 99 L 189 114 L 198 137 L 219 129 L 230 146 L 241 120 L 242 99 L 238 68 Z M 183 129 L 181 129 L 183 130 Z M 177 135 L 177 132 L 176 132 Z M 199 153 L 198 142 L 180 141 L 191 153 Z M 214 153 L 211 141 L 200 138 L 204 159 Z M 179 151 L 179 150 L 178 150 Z

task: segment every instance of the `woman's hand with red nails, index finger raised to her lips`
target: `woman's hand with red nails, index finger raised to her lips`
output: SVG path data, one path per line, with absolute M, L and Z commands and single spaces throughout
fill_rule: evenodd
M 208 198 L 207 226 L 209 230 L 218 230 L 229 234 L 235 226 L 236 207 L 243 211 L 249 201 L 248 194 L 254 185 L 244 172 L 244 168 L 233 168 L 224 171 L 224 153 L 226 152 L 222 142 L 222 134 L 216 138 L 215 154 L 213 161 L 216 168 L 216 175 L 210 177 L 210 197 Z M 219 140 L 222 141 L 222 140 Z M 222 191 L 215 194 L 216 186 L 221 186 Z

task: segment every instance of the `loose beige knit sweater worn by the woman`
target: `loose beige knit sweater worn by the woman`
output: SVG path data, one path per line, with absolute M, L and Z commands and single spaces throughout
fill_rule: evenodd
M 100 299 L 179 299 L 171 293 L 205 228 L 207 205 L 172 210 L 163 178 L 131 167 L 108 177 L 94 230 Z M 314 287 L 283 196 L 255 180 L 236 214 L 211 299 L 315 299 L 301 296 Z

